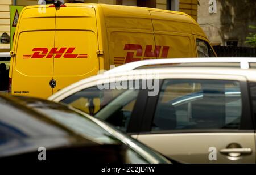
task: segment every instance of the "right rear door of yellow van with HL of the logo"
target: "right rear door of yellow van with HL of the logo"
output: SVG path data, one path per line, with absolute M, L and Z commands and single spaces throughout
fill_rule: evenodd
M 99 62 L 96 13 L 92 7 L 60 7 L 56 12 L 53 93 L 96 75 Z M 54 84 L 53 84 L 54 85 Z

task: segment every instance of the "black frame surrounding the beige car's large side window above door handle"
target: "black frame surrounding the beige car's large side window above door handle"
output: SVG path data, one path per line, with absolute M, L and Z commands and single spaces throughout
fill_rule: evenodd
M 170 80 L 171 78 L 164 78 L 162 79 L 161 86 L 159 89 L 162 88 L 164 80 Z M 177 78 L 175 78 L 177 79 Z M 178 79 L 195 79 L 195 80 L 208 80 L 208 79 L 199 79 L 199 78 L 178 78 Z M 215 80 L 222 80 L 222 79 L 215 79 Z M 223 79 L 226 80 L 226 79 Z M 154 104 L 154 112 L 151 114 L 148 113 L 147 116 L 144 115 L 143 123 L 144 126 L 142 127 L 142 131 L 140 134 L 168 134 L 168 133 L 251 133 L 254 132 L 254 125 L 253 125 L 253 113 L 249 98 L 249 86 L 247 82 L 241 80 L 234 80 L 230 79 L 231 81 L 237 81 L 240 84 L 241 88 L 241 96 L 242 96 L 242 115 L 240 121 L 240 128 L 239 129 L 188 129 L 188 130 L 162 130 L 162 131 L 151 131 L 151 123 L 154 121 L 156 105 L 158 104 L 158 97 L 150 97 L 148 99 L 148 103 Z M 247 104 L 247 105 L 246 105 Z M 146 108 L 147 110 L 150 109 L 152 106 L 148 105 Z

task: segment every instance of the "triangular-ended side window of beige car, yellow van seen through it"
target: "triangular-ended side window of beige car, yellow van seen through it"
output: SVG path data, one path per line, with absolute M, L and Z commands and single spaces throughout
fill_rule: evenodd
M 99 89 L 94 86 L 68 96 L 61 100 L 61 103 L 71 105 L 126 131 L 138 93 L 138 89 Z

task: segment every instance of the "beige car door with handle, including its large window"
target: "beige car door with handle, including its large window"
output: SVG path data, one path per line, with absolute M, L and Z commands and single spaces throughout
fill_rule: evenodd
M 165 79 L 137 139 L 184 163 L 255 163 L 246 79 L 208 77 Z

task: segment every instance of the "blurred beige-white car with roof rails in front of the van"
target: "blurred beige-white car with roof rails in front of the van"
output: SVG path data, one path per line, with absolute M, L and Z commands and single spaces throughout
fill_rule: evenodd
M 105 72 L 49 100 L 92 114 L 183 163 L 255 163 L 255 61 L 179 60 Z

